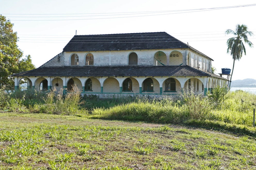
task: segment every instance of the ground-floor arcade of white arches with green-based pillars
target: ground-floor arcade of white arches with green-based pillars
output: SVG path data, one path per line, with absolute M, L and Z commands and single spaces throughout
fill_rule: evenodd
M 28 88 L 36 90 L 72 90 L 76 85 L 81 93 L 97 94 L 178 94 L 193 91 L 206 94 L 217 86 L 226 86 L 226 81 L 208 77 L 20 77 L 26 80 Z M 15 86 L 19 88 L 19 86 Z

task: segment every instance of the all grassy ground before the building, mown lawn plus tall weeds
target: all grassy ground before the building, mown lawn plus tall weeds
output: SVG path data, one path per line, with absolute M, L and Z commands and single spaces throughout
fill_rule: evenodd
M 188 93 L 163 99 L 101 100 L 94 95 L 82 97 L 76 87 L 73 89 L 65 95 L 0 90 L 0 169 L 256 166 L 256 130 L 252 127 L 255 94 L 215 88 L 207 96 Z M 238 137 L 173 128 L 168 123 Z

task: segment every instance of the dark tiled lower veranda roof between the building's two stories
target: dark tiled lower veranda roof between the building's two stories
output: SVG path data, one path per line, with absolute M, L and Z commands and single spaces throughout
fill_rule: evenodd
M 213 76 L 190 66 L 65 66 L 39 67 L 13 76 Z

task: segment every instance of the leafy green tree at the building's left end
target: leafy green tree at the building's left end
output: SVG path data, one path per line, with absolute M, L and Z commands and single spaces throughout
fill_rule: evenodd
M 34 69 L 31 57 L 21 59 L 23 52 L 18 48 L 17 32 L 13 32 L 13 24 L 0 15 L 0 88 L 12 89 L 12 74 Z

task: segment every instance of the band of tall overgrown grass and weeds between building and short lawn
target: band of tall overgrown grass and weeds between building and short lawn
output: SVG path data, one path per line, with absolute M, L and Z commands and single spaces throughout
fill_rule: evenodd
M 256 95 L 244 91 L 228 92 L 214 88 L 207 96 L 184 93 L 162 99 L 114 98 L 98 99 L 80 95 L 77 87 L 63 95 L 55 91 L 0 91 L 0 107 L 4 111 L 77 115 L 91 119 L 117 119 L 154 123 L 186 123 L 215 121 L 245 125 L 253 124 L 252 112 Z

